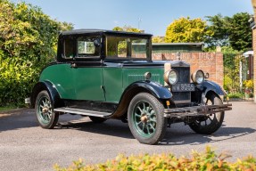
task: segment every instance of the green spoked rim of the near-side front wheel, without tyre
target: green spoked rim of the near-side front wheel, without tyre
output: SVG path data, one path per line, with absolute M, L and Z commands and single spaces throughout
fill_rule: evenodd
M 132 113 L 132 120 L 138 134 L 141 134 L 145 138 L 155 134 L 156 113 L 149 102 L 136 103 Z

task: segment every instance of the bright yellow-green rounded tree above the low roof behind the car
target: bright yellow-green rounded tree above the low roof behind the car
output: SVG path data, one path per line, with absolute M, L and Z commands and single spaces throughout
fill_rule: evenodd
M 166 30 L 165 42 L 204 42 L 205 38 L 211 36 L 206 21 L 198 18 L 191 20 L 189 17 L 174 20 Z

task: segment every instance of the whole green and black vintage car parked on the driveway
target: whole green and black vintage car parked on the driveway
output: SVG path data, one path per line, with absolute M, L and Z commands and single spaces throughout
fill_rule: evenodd
M 198 134 L 217 131 L 231 110 L 222 88 L 201 69 L 190 74 L 185 61 L 152 61 L 151 38 L 100 29 L 62 32 L 56 61 L 42 70 L 30 97 L 39 125 L 54 128 L 64 113 L 95 123 L 116 118 L 146 144 L 160 142 L 177 122 Z

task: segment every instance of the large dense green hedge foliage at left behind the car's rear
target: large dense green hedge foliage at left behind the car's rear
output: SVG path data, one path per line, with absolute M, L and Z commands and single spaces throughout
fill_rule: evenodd
M 0 106 L 24 102 L 54 59 L 59 31 L 71 28 L 31 4 L 0 1 Z

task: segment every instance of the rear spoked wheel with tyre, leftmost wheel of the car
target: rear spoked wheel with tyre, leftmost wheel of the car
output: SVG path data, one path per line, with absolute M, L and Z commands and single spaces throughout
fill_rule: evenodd
M 47 91 L 42 91 L 37 95 L 35 109 L 39 125 L 47 129 L 54 128 L 59 114 L 54 113 L 53 104 Z

